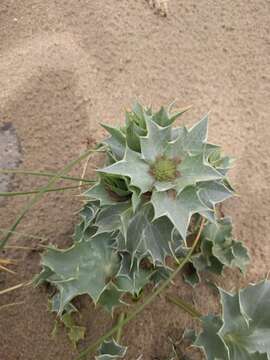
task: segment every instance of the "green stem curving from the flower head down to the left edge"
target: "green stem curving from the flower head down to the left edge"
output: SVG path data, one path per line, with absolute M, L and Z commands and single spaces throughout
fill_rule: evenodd
M 24 218 L 24 216 L 28 213 L 28 211 L 43 197 L 43 195 L 46 193 L 48 189 L 50 189 L 59 179 L 61 176 L 65 176 L 75 165 L 77 165 L 80 161 L 87 158 L 91 153 L 100 152 L 100 149 L 90 149 L 84 152 L 81 156 L 79 156 L 77 159 L 72 160 L 69 162 L 62 171 L 59 173 L 56 173 L 50 181 L 47 183 L 47 186 L 40 189 L 40 191 L 33 196 L 33 198 L 26 204 L 26 206 L 23 208 L 13 225 L 10 227 L 9 232 L 6 236 L 0 241 L 0 250 L 3 249 L 3 247 L 6 245 L 8 240 L 11 238 L 13 231 L 17 228 L 21 220 Z

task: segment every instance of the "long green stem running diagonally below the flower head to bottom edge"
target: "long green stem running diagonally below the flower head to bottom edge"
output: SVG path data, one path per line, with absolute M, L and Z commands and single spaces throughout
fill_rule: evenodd
M 125 325 L 127 325 L 132 319 L 134 319 L 142 310 L 144 310 L 144 308 L 149 305 L 150 303 L 152 303 L 155 298 L 170 284 L 170 282 L 176 277 L 176 275 L 182 270 L 182 268 L 184 267 L 184 265 L 190 260 L 193 251 L 196 248 L 196 245 L 200 239 L 201 236 L 201 232 L 204 226 L 205 220 L 203 219 L 200 225 L 200 229 L 198 231 L 198 234 L 196 236 L 196 239 L 194 240 L 194 243 L 191 247 L 191 249 L 189 250 L 188 254 L 186 255 L 186 257 L 183 259 L 183 261 L 179 264 L 179 266 L 174 270 L 174 272 L 170 275 L 170 277 L 164 281 L 164 283 L 162 283 L 154 292 L 153 294 L 151 294 L 150 296 L 148 296 L 148 298 L 142 303 L 140 304 L 132 313 L 128 314 L 126 316 L 126 318 L 122 321 L 121 323 L 121 327 L 124 327 Z M 75 360 L 79 360 L 84 358 L 86 355 L 93 353 L 97 347 L 104 341 L 107 340 L 109 337 L 111 337 L 113 334 L 115 334 L 118 329 L 119 329 L 120 325 L 117 324 L 115 325 L 111 330 L 109 330 L 105 335 L 101 336 L 98 340 L 96 340 L 92 345 L 90 345 L 89 347 L 87 347 L 85 350 L 83 350 L 79 356 L 76 357 Z

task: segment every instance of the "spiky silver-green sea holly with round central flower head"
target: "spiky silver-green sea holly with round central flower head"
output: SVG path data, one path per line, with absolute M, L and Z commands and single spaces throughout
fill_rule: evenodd
M 208 142 L 208 116 L 191 128 L 174 126 L 186 110 L 154 112 L 137 103 L 123 126 L 102 125 L 109 136 L 98 148 L 106 160 L 83 194 L 73 244 L 50 245 L 42 256 L 35 283 L 55 288 L 54 310 L 61 318 L 83 294 L 114 316 L 152 285 L 145 305 L 91 347 L 97 359 L 125 355 L 119 336 L 113 336 L 184 265 L 192 269 L 185 278 L 194 286 L 202 272 L 221 274 L 225 266 L 244 271 L 248 263 L 246 248 L 233 238 L 231 220 L 220 210 L 234 195 L 227 178 L 233 160 Z

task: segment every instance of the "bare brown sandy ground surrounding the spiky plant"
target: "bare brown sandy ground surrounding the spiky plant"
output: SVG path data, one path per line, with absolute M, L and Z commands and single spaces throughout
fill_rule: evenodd
M 13 123 L 21 168 L 55 170 L 102 138 L 98 122 L 123 121 L 124 108 L 136 98 L 155 106 L 174 99 L 180 107 L 192 104 L 187 124 L 210 110 L 210 140 L 238 159 L 231 179 L 240 196 L 225 211 L 252 255 L 246 279 L 227 271 L 218 280 L 229 290 L 269 271 L 270 3 L 170 0 L 168 8 L 164 18 L 144 0 L 1 0 L 0 126 Z M 12 189 L 40 184 L 44 179 L 20 176 Z M 46 196 L 18 231 L 67 245 L 80 207 L 76 192 L 69 194 Z M 1 203 L 1 228 L 11 225 L 25 200 Z M 38 240 L 15 236 L 11 243 L 34 246 Z M 0 273 L 1 289 L 39 271 L 38 252 L 7 255 L 17 259 L 17 274 Z M 169 291 L 192 300 L 180 279 Z M 47 295 L 46 288 L 29 287 L 1 297 L 2 304 L 24 302 L 0 313 L 1 360 L 74 358 L 64 332 L 50 336 Z M 217 310 L 214 299 L 206 286 L 194 295 L 205 312 Z M 110 319 L 87 299 L 80 309 L 87 327 L 83 347 Z M 125 329 L 126 359 L 166 360 L 168 336 L 180 337 L 187 325 L 189 319 L 161 297 Z

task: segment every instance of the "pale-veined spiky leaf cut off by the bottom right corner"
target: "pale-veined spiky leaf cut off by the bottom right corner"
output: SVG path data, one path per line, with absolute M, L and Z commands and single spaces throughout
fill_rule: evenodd
M 270 356 L 270 281 L 230 294 L 220 290 L 222 319 L 202 318 L 195 341 L 209 360 L 268 360 Z

